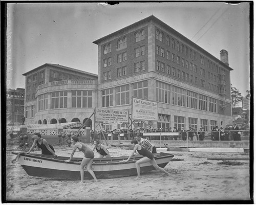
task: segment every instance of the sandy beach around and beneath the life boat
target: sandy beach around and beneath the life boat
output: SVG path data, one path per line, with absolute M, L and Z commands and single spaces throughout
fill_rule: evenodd
M 93 147 L 92 145 L 89 145 Z M 129 155 L 132 150 L 107 147 L 112 156 Z M 13 149 L 13 148 L 11 148 Z M 10 150 L 10 149 L 8 149 Z M 70 156 L 72 148 L 56 147 L 56 154 Z M 35 151 L 40 153 L 40 151 Z M 249 161 L 237 161 L 242 165 L 218 164 L 222 161 L 207 160 L 209 157 L 244 157 L 241 153 L 180 152 L 165 169 L 166 176 L 158 170 L 135 176 L 99 179 L 97 183 L 53 180 L 28 176 L 19 163 L 12 164 L 15 155 L 7 152 L 7 201 L 212 201 L 250 200 Z M 83 156 L 76 152 L 74 157 Z M 95 157 L 98 153 L 95 152 Z

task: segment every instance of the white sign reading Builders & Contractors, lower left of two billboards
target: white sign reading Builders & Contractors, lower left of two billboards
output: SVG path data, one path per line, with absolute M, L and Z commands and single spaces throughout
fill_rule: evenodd
M 103 123 L 127 123 L 129 122 L 129 110 L 118 110 L 109 108 L 96 108 L 96 118 L 99 122 Z

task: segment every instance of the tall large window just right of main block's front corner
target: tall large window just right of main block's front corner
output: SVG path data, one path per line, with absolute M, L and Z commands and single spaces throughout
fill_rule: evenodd
M 170 85 L 156 82 L 157 101 L 170 104 Z

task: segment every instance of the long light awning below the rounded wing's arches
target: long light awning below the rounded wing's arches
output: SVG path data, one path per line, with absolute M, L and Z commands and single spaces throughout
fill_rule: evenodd
M 66 122 L 66 123 L 57 123 L 57 124 L 47 124 L 47 125 L 39 125 L 39 124 L 28 124 L 28 128 L 30 129 L 56 129 L 58 127 L 63 127 L 63 129 L 72 129 L 76 127 L 81 127 L 82 124 L 80 122 Z

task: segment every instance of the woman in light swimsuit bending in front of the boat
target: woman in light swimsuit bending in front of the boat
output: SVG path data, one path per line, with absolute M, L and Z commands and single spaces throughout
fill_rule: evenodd
M 70 159 L 69 160 L 65 160 L 64 162 L 70 162 L 76 149 L 78 148 L 79 151 L 84 153 L 84 157 L 82 159 L 81 165 L 80 165 L 80 174 L 81 174 L 81 183 L 83 183 L 83 177 L 84 177 L 84 167 L 87 166 L 87 171 L 92 175 L 92 177 L 94 178 L 94 181 L 98 181 L 93 170 L 92 170 L 92 163 L 93 163 L 93 158 L 94 158 L 94 153 L 93 150 L 89 147 L 87 147 L 85 144 L 78 142 L 78 137 L 77 136 L 73 136 L 71 139 L 71 143 L 74 146 L 74 149 L 70 155 Z

